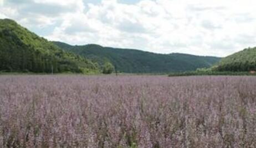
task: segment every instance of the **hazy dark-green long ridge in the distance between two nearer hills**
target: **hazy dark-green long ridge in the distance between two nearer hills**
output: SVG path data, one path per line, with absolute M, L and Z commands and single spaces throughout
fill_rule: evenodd
M 194 56 L 188 54 L 155 54 L 132 49 L 116 49 L 100 45 L 71 46 L 54 42 L 62 49 L 87 57 L 100 65 L 111 62 L 118 71 L 127 73 L 167 73 L 193 71 L 197 68 L 211 67 L 220 58 Z

